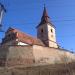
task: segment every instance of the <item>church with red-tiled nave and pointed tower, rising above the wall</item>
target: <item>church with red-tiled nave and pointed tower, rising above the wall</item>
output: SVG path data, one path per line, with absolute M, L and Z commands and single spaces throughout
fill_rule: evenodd
M 46 7 L 37 28 L 37 38 L 33 38 L 20 30 L 9 28 L 2 40 L 2 45 L 42 45 L 46 47 L 58 48 L 56 43 L 55 26 L 50 22 Z

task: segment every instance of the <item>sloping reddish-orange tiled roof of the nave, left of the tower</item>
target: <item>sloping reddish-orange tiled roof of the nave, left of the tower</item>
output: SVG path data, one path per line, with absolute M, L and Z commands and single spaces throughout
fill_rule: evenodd
M 18 41 L 20 41 L 20 42 L 27 43 L 30 45 L 36 44 L 36 45 L 43 45 L 44 46 L 44 44 L 42 43 L 42 41 L 40 39 L 34 38 L 26 33 L 21 32 L 18 29 L 9 28 L 6 32 L 6 34 L 9 32 L 14 33 L 15 34 L 14 37 L 16 37 L 18 39 Z

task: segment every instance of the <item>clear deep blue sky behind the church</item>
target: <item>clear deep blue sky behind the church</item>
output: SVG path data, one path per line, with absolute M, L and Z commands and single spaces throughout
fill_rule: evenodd
M 56 27 L 57 43 L 75 52 L 75 0 L 0 0 L 7 12 L 3 16 L 3 30 L 17 28 L 36 37 L 44 4 Z M 0 41 L 4 33 L 0 32 Z

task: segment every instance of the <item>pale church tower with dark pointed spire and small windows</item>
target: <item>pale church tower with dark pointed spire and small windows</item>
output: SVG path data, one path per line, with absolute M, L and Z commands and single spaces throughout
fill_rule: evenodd
M 45 6 L 41 22 L 37 26 L 37 38 L 39 38 L 47 47 L 58 48 L 56 43 L 55 26 L 50 22 Z

